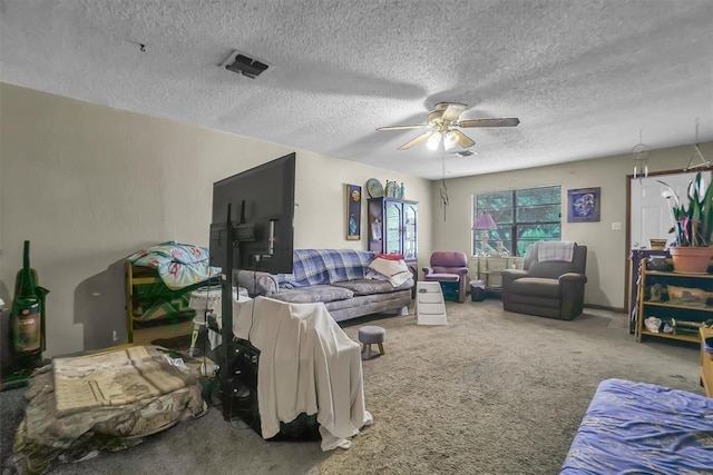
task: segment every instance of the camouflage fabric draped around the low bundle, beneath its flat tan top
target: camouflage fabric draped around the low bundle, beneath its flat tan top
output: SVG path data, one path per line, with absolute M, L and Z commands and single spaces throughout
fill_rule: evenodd
M 74 369 L 77 367 L 79 365 Z M 185 370 L 195 373 L 194 369 Z M 88 405 L 84 410 L 64 414 L 57 409 L 55 380 L 53 363 L 39 368 L 30 378 L 25 395 L 28 402 L 26 415 L 14 438 L 13 461 L 20 474 L 41 474 L 94 451 L 130 447 L 146 435 L 166 429 L 178 420 L 198 417 L 207 409 L 196 383 L 197 374 L 185 377 L 183 387 L 165 394 L 128 404 Z M 86 390 L 90 390 L 89 387 L 87 385 Z

